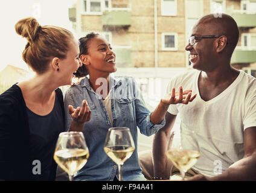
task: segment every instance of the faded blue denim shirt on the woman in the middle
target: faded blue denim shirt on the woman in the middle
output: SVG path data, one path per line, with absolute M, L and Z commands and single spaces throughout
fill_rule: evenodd
M 103 81 L 104 82 L 104 81 Z M 103 83 L 104 84 L 104 83 Z M 118 166 L 104 152 L 104 142 L 110 127 L 128 127 L 135 142 L 135 151 L 124 162 L 123 180 L 146 180 L 139 166 L 137 153 L 137 138 L 139 128 L 142 134 L 150 136 L 165 124 L 165 119 L 159 125 L 150 122 L 151 113 L 146 108 L 139 93 L 138 86 L 131 77 L 110 76 L 110 100 L 113 124 L 110 121 L 103 100 L 94 92 L 86 77 L 80 84 L 75 84 L 65 94 L 66 130 L 71 125 L 68 105 L 80 107 L 86 100 L 91 108 L 91 120 L 86 122 L 83 134 L 89 148 L 89 159 L 86 165 L 77 172 L 75 180 L 114 180 L 118 179 Z

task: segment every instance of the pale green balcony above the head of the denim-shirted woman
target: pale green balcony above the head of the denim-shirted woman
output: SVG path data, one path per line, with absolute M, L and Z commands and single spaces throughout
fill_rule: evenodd
M 102 14 L 103 28 L 123 27 L 128 28 L 131 24 L 130 11 L 106 11 Z

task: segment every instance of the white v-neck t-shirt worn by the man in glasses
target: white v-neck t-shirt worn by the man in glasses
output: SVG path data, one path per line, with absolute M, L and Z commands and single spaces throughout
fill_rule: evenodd
M 197 93 L 193 102 L 170 105 L 168 112 L 181 118 L 182 146 L 190 149 L 186 130 L 194 130 L 199 139 L 201 157 L 194 169 L 205 176 L 216 176 L 244 156 L 243 134 L 256 126 L 256 79 L 240 71 L 235 81 L 222 93 L 203 101 L 198 89 L 200 71 L 192 70 L 173 78 L 172 87 L 182 86 Z M 217 167 L 217 170 L 216 170 Z M 222 169 L 222 170 L 218 170 Z

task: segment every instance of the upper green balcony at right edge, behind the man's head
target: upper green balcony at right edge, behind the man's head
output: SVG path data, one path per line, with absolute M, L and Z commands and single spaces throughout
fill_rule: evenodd
M 237 22 L 239 28 L 256 27 L 256 14 L 234 13 L 232 17 Z

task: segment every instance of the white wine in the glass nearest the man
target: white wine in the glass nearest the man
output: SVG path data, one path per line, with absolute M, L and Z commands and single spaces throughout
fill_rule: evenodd
M 188 169 L 196 164 L 200 157 L 200 152 L 196 150 L 168 150 L 166 155 L 176 168 L 187 172 Z

